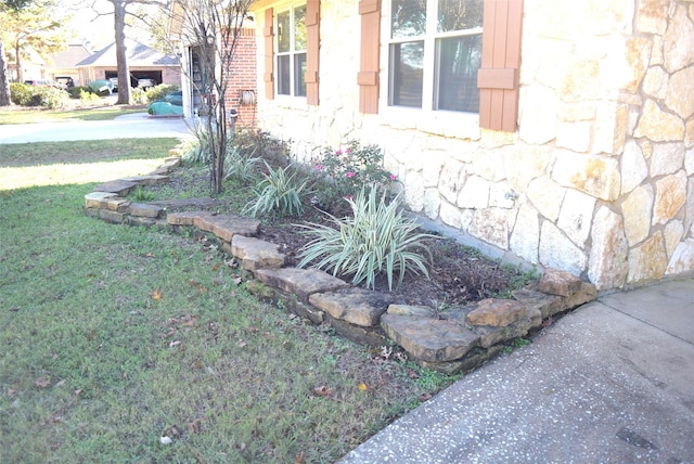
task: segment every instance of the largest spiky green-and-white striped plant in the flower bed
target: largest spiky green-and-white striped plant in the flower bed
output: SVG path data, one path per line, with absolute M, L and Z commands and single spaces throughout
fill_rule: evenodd
M 384 192 L 377 199 L 377 190 L 372 186 L 367 195 L 362 189 L 355 199 L 347 201 L 351 218 L 337 219 L 329 215 L 335 228 L 317 223 L 301 225 L 313 239 L 299 252 L 298 267 L 317 261 L 313 266 L 318 269 L 332 271 L 333 275 L 354 275 L 354 284 L 365 281 L 369 288 L 374 288 L 381 274 L 386 275 L 389 289 L 396 273 L 398 286 L 408 271 L 428 278 L 432 257 L 422 240 L 435 235 L 415 233 L 417 224 L 402 217 L 398 198 L 387 203 Z

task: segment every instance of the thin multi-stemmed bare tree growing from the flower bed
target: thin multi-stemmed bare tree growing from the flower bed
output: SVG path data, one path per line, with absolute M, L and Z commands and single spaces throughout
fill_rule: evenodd
M 194 47 L 202 80 L 193 79 L 191 63 L 183 69 L 184 78 L 203 96 L 202 137 L 210 150 L 210 182 L 213 193 L 222 191 L 224 156 L 229 130 L 229 113 L 224 95 L 234 78 L 233 62 L 241 38 L 241 28 L 253 0 L 176 0 L 170 9 L 172 29 L 185 47 Z

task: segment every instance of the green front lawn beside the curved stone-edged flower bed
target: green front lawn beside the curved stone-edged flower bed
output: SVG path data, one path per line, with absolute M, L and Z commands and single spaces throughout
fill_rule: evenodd
M 93 143 L 0 145 L 2 462 L 334 462 L 449 381 L 257 301 L 205 240 L 88 218 L 176 141 Z

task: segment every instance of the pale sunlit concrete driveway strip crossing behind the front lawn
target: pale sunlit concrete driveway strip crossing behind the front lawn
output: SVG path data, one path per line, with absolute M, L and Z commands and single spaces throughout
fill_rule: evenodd
M 127 114 L 113 120 L 0 126 L 0 144 L 104 139 L 182 139 L 191 136 L 191 130 L 183 118 L 155 118 L 146 113 Z

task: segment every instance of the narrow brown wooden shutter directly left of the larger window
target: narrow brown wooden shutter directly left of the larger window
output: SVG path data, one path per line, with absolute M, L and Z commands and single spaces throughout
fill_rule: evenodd
M 381 51 L 381 0 L 361 0 L 361 63 L 359 85 L 359 111 L 378 113 L 378 53 Z

